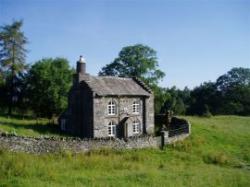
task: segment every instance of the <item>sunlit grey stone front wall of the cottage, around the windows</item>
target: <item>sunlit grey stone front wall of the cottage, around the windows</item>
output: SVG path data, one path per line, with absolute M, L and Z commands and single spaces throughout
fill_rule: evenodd
M 108 115 L 108 103 L 113 100 L 117 105 L 115 115 Z M 139 113 L 133 114 L 132 106 L 134 101 L 139 101 Z M 127 124 L 127 136 L 135 136 L 142 134 L 145 121 L 143 120 L 143 98 L 142 97 L 95 97 L 94 98 L 94 137 L 108 137 L 108 124 L 113 121 L 117 124 L 117 129 L 124 128 L 121 124 L 126 117 L 128 119 L 124 122 Z M 133 121 L 140 122 L 141 131 L 138 134 L 133 132 Z M 124 131 L 122 129 L 121 131 Z M 122 133 L 122 132 L 121 132 Z M 119 136 L 119 132 L 118 132 Z M 122 136 L 120 134 L 120 136 Z

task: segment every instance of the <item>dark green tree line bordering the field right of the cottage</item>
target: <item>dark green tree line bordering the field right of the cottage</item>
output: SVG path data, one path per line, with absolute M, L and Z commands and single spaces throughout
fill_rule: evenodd
M 250 115 L 250 69 L 233 68 L 216 82 L 204 82 L 193 90 L 159 88 L 156 91 L 156 113 L 174 111 L 175 115 L 216 114 Z M 160 108 L 160 110 L 159 110 Z

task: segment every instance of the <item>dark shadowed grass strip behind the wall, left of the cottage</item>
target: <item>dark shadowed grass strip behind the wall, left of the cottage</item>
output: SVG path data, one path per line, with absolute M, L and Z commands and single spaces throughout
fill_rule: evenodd
M 3 122 L 0 121 L 0 126 L 8 126 L 8 127 L 12 127 L 15 129 L 27 129 L 27 130 L 33 130 L 36 131 L 38 133 L 40 133 L 41 135 L 49 135 L 49 134 L 53 134 L 53 135 L 60 135 L 60 136 L 69 136 L 66 133 L 63 133 L 60 129 L 58 125 L 52 125 L 52 124 L 16 124 L 14 122 Z

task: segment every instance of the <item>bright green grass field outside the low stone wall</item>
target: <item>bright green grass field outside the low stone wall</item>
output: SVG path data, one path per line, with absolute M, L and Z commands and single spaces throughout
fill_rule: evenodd
M 191 137 L 163 151 L 1 150 L 0 186 L 250 186 L 250 117 L 185 118 Z

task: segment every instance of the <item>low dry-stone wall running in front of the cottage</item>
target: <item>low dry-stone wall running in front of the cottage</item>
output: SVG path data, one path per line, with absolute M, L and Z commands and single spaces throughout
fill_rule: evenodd
M 189 134 L 182 134 L 175 137 L 165 137 L 164 144 L 171 144 L 178 140 L 183 140 Z M 123 139 L 80 139 L 80 138 L 55 138 L 55 137 L 21 137 L 0 133 L 0 149 L 13 152 L 27 153 L 51 153 L 64 150 L 74 153 L 86 152 L 97 149 L 141 149 L 160 148 L 161 137 L 141 136 Z

